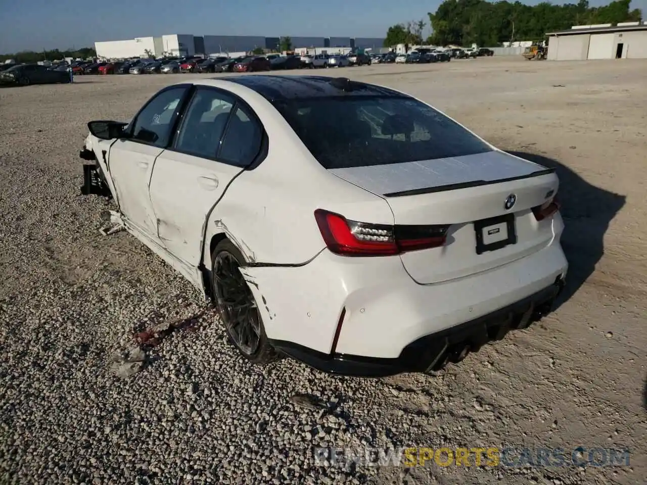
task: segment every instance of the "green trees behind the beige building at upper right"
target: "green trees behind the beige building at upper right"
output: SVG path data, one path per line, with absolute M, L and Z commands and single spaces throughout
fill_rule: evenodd
M 503 42 L 542 40 L 547 32 L 566 30 L 573 25 L 639 21 L 639 8 L 630 10 L 631 0 L 612 1 L 591 7 L 587 0 L 565 5 L 542 2 L 524 5 L 519 1 L 445 0 L 435 13 L 428 13 L 432 35 L 424 43 L 456 44 L 464 47 L 496 46 Z M 385 47 L 422 43 L 425 22 L 413 21 L 389 27 Z

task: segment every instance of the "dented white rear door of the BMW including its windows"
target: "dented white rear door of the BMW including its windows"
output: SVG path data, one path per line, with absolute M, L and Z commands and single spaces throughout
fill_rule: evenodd
M 197 87 L 173 146 L 155 162 L 151 200 L 159 239 L 188 266 L 198 266 L 204 224 L 228 185 L 263 144 L 263 127 L 233 94 Z

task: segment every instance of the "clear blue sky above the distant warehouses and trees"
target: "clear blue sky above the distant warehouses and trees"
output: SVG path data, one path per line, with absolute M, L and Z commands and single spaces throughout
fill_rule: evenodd
M 633 0 L 631 8 L 645 8 Z M 0 54 L 162 34 L 383 37 L 441 0 L 0 0 Z M 534 5 L 538 1 L 527 1 Z M 562 2 L 554 2 L 562 3 Z M 571 0 L 576 3 L 576 0 Z M 589 0 L 591 6 L 605 0 Z M 429 34 L 427 26 L 424 34 Z

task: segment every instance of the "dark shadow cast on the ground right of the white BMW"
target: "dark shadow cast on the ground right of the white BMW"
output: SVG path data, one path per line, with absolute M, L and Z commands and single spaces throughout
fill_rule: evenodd
M 531 162 L 554 168 L 560 179 L 557 198 L 564 219 L 562 248 L 569 262 L 564 291 L 555 302 L 558 307 L 569 299 L 595 271 L 604 254 L 604 233 L 609 222 L 622 209 L 626 197 L 589 184 L 573 170 L 553 158 L 534 153 L 510 151 Z

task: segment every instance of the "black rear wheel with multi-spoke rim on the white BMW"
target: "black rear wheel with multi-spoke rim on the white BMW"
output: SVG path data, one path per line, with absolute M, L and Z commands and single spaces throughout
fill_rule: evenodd
M 211 261 L 212 298 L 230 342 L 252 363 L 264 365 L 276 360 L 252 290 L 238 270 L 245 266 L 245 257 L 225 239 L 215 246 Z M 226 303 L 227 298 L 236 302 L 236 309 Z

